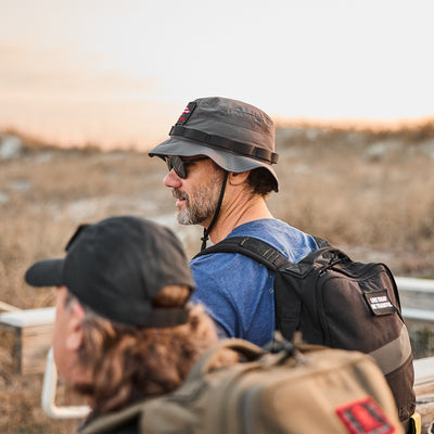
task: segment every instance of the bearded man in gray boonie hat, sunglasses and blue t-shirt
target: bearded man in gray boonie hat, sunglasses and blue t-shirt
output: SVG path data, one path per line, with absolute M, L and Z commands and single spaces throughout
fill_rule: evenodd
M 294 263 L 317 250 L 312 237 L 272 217 L 266 199 L 278 192 L 272 167 L 275 126 L 261 110 L 226 98 L 190 102 L 170 138 L 150 156 L 165 159 L 163 182 L 173 191 L 181 225 L 204 227 L 206 241 L 255 237 Z M 218 253 L 190 263 L 194 299 L 207 306 L 221 337 L 242 337 L 257 345 L 275 330 L 273 273 L 241 254 Z

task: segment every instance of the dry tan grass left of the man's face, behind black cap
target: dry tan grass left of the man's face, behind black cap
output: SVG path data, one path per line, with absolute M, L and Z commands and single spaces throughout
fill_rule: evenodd
M 63 256 L 81 222 L 115 214 L 154 212 L 161 183 L 157 165 L 136 152 L 40 151 L 0 162 L 0 299 L 21 308 L 50 304 L 50 292 L 27 288 L 35 260 Z

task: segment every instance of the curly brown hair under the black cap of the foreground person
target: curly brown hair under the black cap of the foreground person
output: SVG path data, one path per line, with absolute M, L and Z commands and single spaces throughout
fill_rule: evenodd
M 189 295 L 187 286 L 165 286 L 153 305 L 183 306 Z M 86 308 L 82 329 L 79 359 L 93 383 L 76 390 L 90 395 L 100 413 L 176 390 L 197 357 L 217 341 L 212 319 L 194 305 L 186 324 L 158 329 L 116 323 Z

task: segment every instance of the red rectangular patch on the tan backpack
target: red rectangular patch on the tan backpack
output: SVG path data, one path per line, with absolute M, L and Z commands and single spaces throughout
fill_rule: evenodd
M 350 434 L 390 434 L 395 426 L 371 398 L 362 398 L 336 408 L 336 414 Z

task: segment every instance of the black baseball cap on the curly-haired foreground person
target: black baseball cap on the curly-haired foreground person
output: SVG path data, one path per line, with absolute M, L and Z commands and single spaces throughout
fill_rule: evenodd
M 139 217 L 111 217 L 78 227 L 66 252 L 64 258 L 34 264 L 26 282 L 65 285 L 81 304 L 113 321 L 152 328 L 187 322 L 187 306 L 152 306 L 163 286 L 194 290 L 182 245 L 168 228 Z

